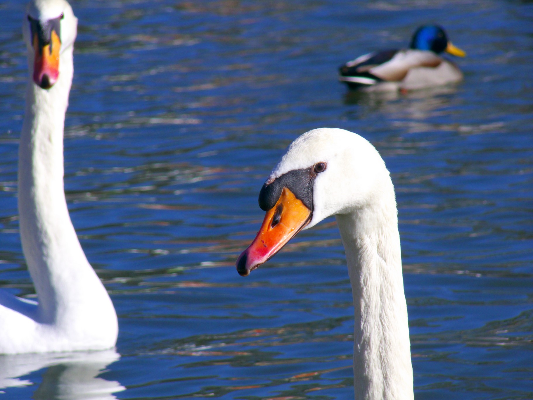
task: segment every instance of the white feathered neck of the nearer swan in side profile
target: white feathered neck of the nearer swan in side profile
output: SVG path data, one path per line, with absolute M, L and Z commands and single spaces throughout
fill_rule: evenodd
M 398 217 L 390 179 L 375 202 L 337 215 L 352 285 L 356 400 L 413 399 Z

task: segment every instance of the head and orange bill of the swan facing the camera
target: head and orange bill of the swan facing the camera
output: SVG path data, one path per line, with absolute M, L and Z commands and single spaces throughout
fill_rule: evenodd
M 65 0 L 32 0 L 26 7 L 22 33 L 34 83 L 50 89 L 58 81 L 61 55 L 71 50 L 78 19 Z

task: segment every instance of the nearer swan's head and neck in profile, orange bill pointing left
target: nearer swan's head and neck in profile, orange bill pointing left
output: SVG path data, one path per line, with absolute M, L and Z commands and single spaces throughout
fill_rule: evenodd
M 259 204 L 266 215 L 237 260 L 239 274 L 247 276 L 300 230 L 335 215 L 355 309 L 355 398 L 413 399 L 398 212 L 374 146 L 342 129 L 304 133 L 266 180 Z

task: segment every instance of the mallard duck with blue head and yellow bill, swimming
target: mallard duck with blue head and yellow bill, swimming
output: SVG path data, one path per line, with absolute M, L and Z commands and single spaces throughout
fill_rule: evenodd
M 379 90 L 422 89 L 461 81 L 461 70 L 440 57 L 442 52 L 466 55 L 448 41 L 442 27 L 424 25 L 415 31 L 409 49 L 361 55 L 341 66 L 339 79 L 352 88 L 373 86 Z

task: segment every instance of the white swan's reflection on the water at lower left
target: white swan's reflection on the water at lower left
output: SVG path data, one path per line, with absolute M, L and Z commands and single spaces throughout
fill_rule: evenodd
M 35 390 L 35 400 L 116 399 L 112 393 L 125 388 L 98 375 L 120 355 L 114 350 L 0 355 L 0 390 L 33 385 L 26 375 L 46 368 Z

